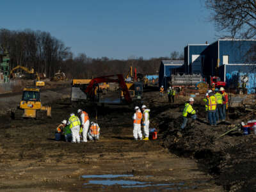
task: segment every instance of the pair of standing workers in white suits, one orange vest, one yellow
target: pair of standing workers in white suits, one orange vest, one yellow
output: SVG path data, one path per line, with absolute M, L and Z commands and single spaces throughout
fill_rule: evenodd
M 141 113 L 141 110 L 138 106 L 134 108 L 135 113 L 132 116 L 133 119 L 133 137 L 134 140 L 148 140 L 149 137 L 149 112 L 150 109 L 147 109 L 147 106 L 143 105 L 141 106 L 141 110 L 143 113 Z M 141 133 L 141 124 L 143 125 L 143 133 L 144 138 L 142 137 Z

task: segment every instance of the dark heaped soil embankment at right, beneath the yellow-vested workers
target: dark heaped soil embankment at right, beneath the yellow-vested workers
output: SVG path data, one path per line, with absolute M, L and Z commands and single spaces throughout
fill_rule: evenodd
M 167 98 L 158 97 L 156 95 L 156 99 L 150 102 L 150 108 L 155 124 L 159 125 L 164 147 L 179 156 L 197 159 L 202 170 L 213 175 L 216 184 L 227 191 L 256 191 L 255 135 L 243 136 L 241 132 L 233 132 L 217 140 L 230 127 L 226 124 L 211 127 L 198 121 L 181 131 L 184 99 L 179 97 L 175 104 L 168 104 Z M 198 116 L 204 118 L 204 105 L 197 104 L 199 102 L 197 100 L 194 107 L 200 111 Z M 239 123 L 245 114 L 241 109 L 232 109 L 230 121 Z

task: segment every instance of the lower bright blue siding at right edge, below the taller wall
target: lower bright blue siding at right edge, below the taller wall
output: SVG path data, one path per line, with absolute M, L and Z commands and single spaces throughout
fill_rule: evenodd
M 241 76 L 249 77 L 249 81 L 246 83 L 246 88 L 249 94 L 255 93 L 256 65 L 226 65 L 227 87 L 236 87 L 237 83 L 241 84 Z

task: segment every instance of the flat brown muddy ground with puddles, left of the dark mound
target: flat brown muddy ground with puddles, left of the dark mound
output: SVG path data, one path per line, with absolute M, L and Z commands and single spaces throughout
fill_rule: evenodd
M 145 93 L 145 103 L 147 95 L 151 98 L 152 92 Z M 52 118 L 44 120 L 11 121 L 8 115 L 1 116 L 0 191 L 223 191 L 195 160 L 163 147 L 163 133 L 158 140 L 134 141 L 134 111 L 129 106 L 99 106 L 100 140 L 79 144 L 54 141 L 56 126 L 78 108 L 95 119 L 95 106 L 71 105 L 67 98 L 51 106 Z M 157 110 L 165 109 L 151 106 L 153 119 Z M 153 126 L 158 126 L 157 120 Z M 100 174 L 128 174 L 117 180 L 141 184 L 106 186 L 90 184 L 102 179 L 81 177 Z

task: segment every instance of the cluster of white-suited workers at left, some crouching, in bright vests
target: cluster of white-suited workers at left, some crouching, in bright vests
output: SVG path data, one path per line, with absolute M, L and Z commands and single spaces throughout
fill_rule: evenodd
M 88 113 L 78 109 L 77 115 L 71 113 L 68 121 L 63 120 L 58 125 L 56 132 L 63 134 L 67 142 L 80 143 L 80 137 L 83 138 L 83 142 L 87 142 L 87 137 L 89 140 L 99 140 L 100 127 L 95 122 L 90 123 Z

